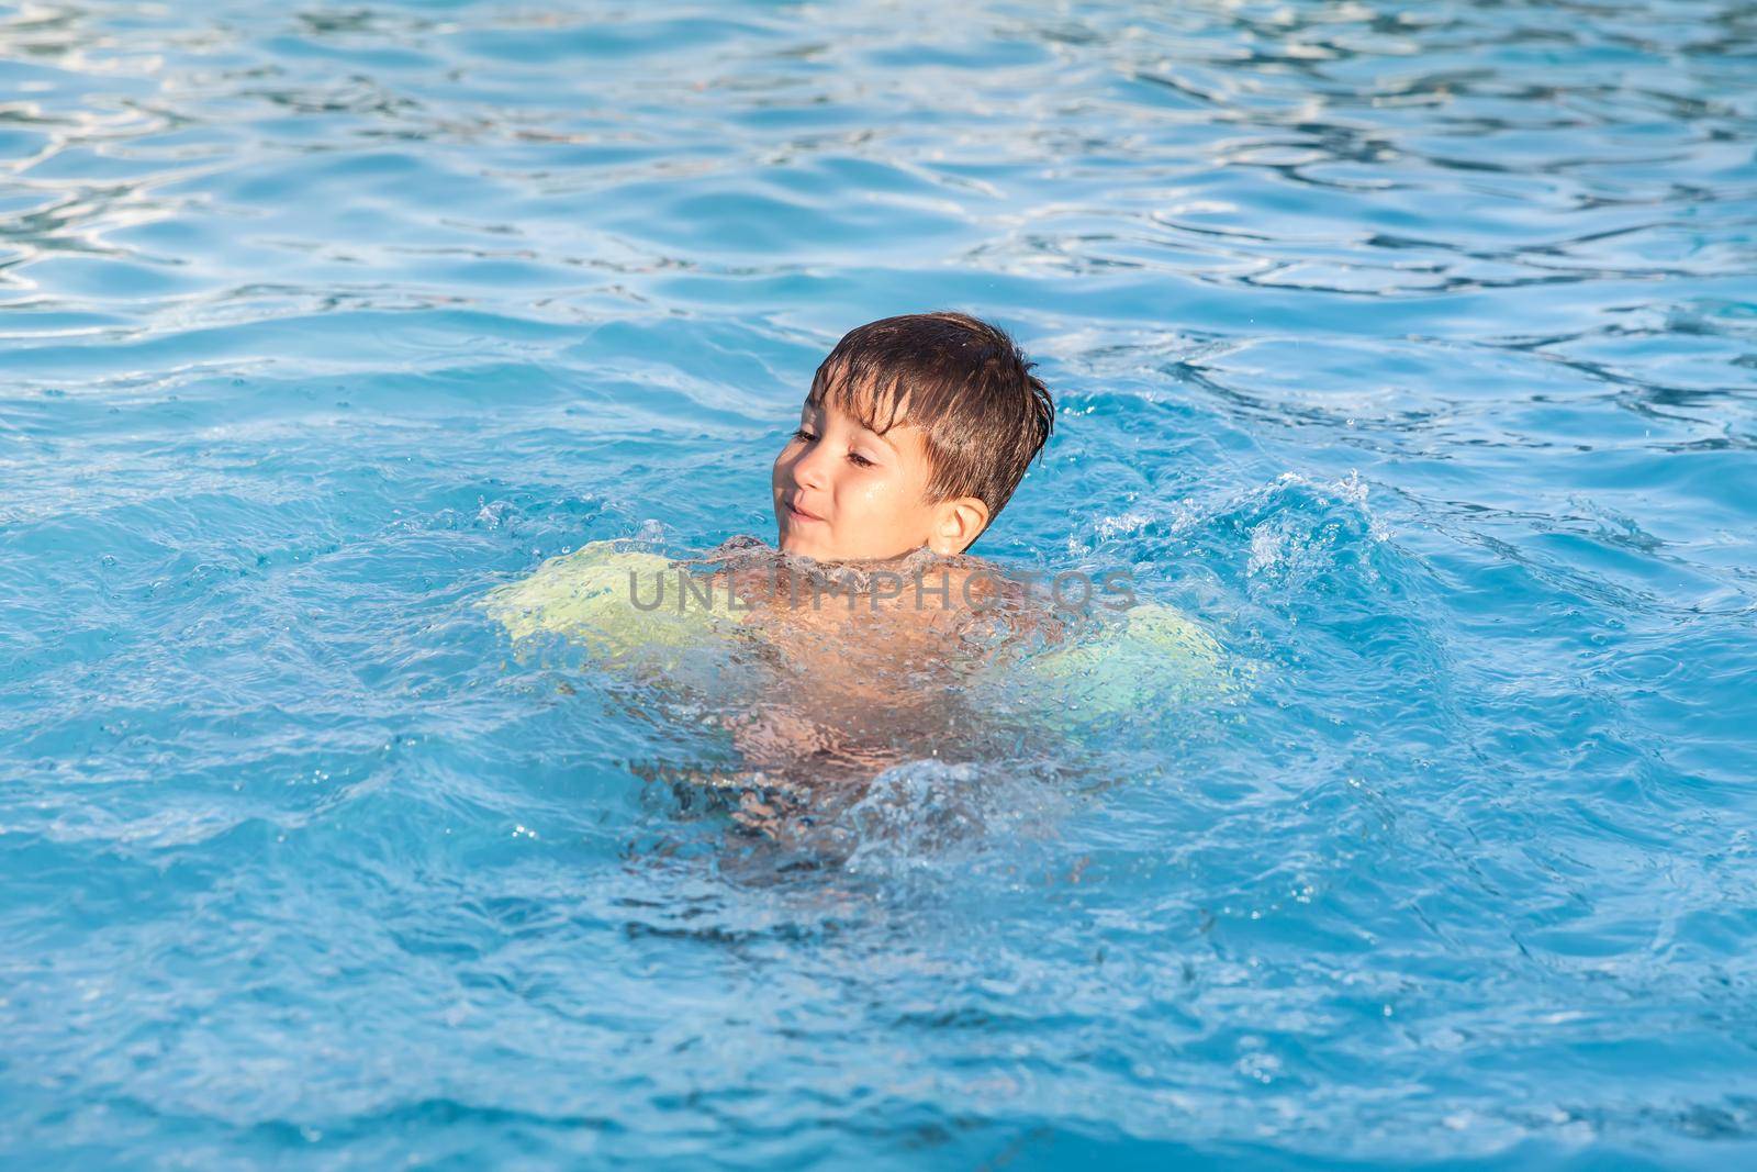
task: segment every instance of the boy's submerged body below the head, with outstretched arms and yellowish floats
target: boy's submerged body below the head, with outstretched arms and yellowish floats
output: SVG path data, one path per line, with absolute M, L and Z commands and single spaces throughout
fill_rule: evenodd
M 838 566 L 754 538 L 703 559 L 594 541 L 499 587 L 515 641 L 564 638 L 731 734 L 747 819 L 857 799 L 915 759 L 984 761 L 1021 740 L 1221 698 L 1218 643 L 1168 606 L 1056 608 L 989 562 L 917 550 Z

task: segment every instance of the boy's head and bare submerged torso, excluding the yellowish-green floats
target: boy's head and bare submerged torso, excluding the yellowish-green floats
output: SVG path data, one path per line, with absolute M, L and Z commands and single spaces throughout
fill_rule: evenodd
M 861 325 L 819 365 L 771 473 L 791 557 L 722 553 L 778 678 L 801 684 L 729 722 L 771 785 L 857 782 L 910 752 L 936 756 L 965 724 L 944 687 L 958 675 L 951 652 L 973 611 L 1024 617 L 1021 592 L 965 552 L 1054 425 L 1031 365 L 963 313 Z

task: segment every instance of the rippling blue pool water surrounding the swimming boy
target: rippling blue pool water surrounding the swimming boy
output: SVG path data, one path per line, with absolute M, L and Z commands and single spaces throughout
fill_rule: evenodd
M 1757 1160 L 1753 69 L 1731 0 L 0 4 L 0 1163 Z M 801 865 L 476 601 L 771 538 L 817 360 L 942 306 L 1061 402 L 977 552 L 1253 684 Z

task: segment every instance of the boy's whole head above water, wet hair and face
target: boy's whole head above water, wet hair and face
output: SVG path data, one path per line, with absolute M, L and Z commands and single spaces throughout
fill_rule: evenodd
M 963 313 L 850 330 L 775 457 L 780 548 L 821 561 L 963 553 L 1049 439 L 1056 404 L 1031 365 Z

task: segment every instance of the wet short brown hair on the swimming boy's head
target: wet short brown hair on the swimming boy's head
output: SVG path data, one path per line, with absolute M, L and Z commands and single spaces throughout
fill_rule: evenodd
M 849 330 L 806 402 L 828 399 L 878 434 L 914 423 L 926 439 L 928 499 L 977 497 L 993 524 L 1056 423 L 1035 365 L 998 325 L 910 313 Z

